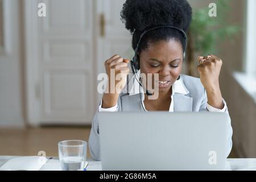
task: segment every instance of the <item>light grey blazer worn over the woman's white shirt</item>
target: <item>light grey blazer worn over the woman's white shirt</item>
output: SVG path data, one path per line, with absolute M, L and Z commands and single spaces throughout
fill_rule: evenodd
M 188 94 L 174 94 L 174 111 L 208 111 L 207 110 L 207 94 L 204 86 L 201 84 L 199 78 L 181 75 L 181 79 L 185 88 L 189 91 Z M 127 81 L 128 83 L 129 81 Z M 118 99 L 118 111 L 144 111 L 141 105 L 141 98 L 139 94 L 133 96 L 129 95 L 129 92 L 122 93 Z M 228 109 L 224 110 L 228 113 Z M 94 160 L 101 160 L 100 152 L 100 132 L 98 130 L 98 109 L 93 117 L 92 129 L 89 137 L 89 150 Z M 227 157 L 232 149 L 232 126 L 230 122 L 229 138 L 227 138 L 228 148 Z

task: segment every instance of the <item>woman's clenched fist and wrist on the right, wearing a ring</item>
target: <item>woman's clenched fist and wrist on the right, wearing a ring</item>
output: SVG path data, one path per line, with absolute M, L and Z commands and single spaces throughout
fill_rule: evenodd
M 224 103 L 222 101 L 220 84 L 218 77 L 220 76 L 222 60 L 214 55 L 206 57 L 197 57 L 200 65 L 197 70 L 200 73 L 200 80 L 203 84 L 208 97 L 208 104 L 217 109 L 222 109 Z

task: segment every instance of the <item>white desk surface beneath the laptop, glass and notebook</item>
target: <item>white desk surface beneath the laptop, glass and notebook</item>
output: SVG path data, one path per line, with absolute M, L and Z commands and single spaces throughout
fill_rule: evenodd
M 0 156 L 0 167 L 9 159 L 18 156 Z M 101 171 L 101 162 L 92 159 L 87 160 L 89 163 L 88 171 Z M 232 171 L 256 171 L 256 159 L 228 159 Z M 57 158 L 49 159 L 41 168 L 42 171 L 59 171 L 60 163 Z

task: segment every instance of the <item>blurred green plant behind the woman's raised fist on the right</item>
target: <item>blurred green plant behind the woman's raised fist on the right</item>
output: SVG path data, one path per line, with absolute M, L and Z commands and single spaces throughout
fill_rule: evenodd
M 229 16 L 229 0 L 218 0 L 217 17 L 208 15 L 209 8 L 198 9 L 193 12 L 191 27 L 188 31 L 188 74 L 193 75 L 195 53 L 201 55 L 217 54 L 218 44 L 226 38 L 232 38 L 240 31 L 238 26 L 227 23 Z

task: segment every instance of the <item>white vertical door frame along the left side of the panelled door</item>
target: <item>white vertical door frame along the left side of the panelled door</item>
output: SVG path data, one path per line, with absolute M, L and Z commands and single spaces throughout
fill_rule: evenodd
M 38 75 L 38 61 L 35 55 L 38 55 L 37 42 L 38 27 L 32 27 L 36 22 L 36 12 L 32 8 L 32 5 L 36 6 L 36 1 L 24 0 L 23 1 L 23 16 L 24 16 L 24 47 L 25 47 L 25 80 L 26 80 L 26 115 L 27 123 L 30 126 L 39 125 L 39 112 L 40 112 L 40 101 L 36 100 L 39 94 L 39 75 Z M 37 6 L 36 6 L 37 7 Z M 37 89 L 35 89 L 35 85 Z

